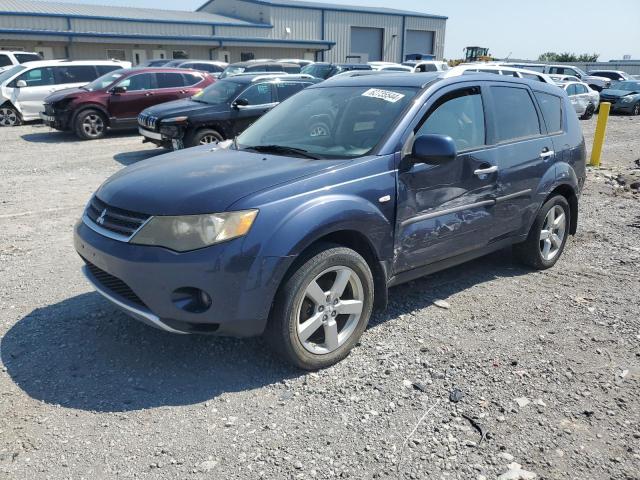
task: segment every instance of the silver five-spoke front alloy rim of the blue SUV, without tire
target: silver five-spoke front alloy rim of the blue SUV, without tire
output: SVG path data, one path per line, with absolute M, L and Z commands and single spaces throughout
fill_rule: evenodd
M 300 343 L 314 354 L 337 350 L 356 330 L 363 306 L 358 275 L 344 266 L 326 269 L 307 285 L 296 309 Z

